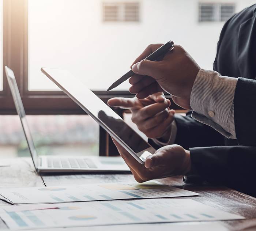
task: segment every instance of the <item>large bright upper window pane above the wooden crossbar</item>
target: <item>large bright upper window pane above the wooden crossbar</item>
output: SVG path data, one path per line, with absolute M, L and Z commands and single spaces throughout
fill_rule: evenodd
M 199 4 L 223 3 L 199 22 Z M 227 5 L 225 5 L 227 4 Z M 56 90 L 41 67 L 66 68 L 93 90 L 106 90 L 150 43 L 173 40 L 212 69 L 220 31 L 249 0 L 28 0 L 29 90 Z M 228 14 L 228 16 L 227 16 Z M 128 90 L 126 81 L 116 90 Z

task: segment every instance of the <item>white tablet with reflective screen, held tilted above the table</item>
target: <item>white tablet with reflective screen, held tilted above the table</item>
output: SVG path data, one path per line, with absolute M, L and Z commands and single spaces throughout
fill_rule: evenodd
M 78 78 L 65 69 L 41 71 L 118 141 L 139 163 L 144 164 L 155 149 L 133 130 Z

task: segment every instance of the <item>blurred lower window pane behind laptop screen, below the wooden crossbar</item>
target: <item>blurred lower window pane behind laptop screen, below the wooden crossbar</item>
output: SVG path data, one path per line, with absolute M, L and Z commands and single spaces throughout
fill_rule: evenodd
M 99 155 L 99 125 L 87 115 L 26 116 L 38 155 Z M 0 116 L 0 156 L 30 156 L 18 116 Z

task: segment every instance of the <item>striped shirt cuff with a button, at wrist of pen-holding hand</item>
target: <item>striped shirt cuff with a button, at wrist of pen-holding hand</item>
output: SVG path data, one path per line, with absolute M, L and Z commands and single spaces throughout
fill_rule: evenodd
M 190 98 L 193 118 L 232 139 L 236 139 L 233 103 L 236 84 L 237 78 L 201 69 Z

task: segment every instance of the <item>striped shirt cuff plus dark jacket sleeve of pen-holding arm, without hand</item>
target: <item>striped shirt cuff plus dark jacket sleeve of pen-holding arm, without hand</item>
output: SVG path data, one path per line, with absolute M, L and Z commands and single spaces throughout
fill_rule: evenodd
M 240 145 L 256 146 L 256 80 L 201 70 L 190 102 L 193 118 L 226 137 L 237 138 Z

